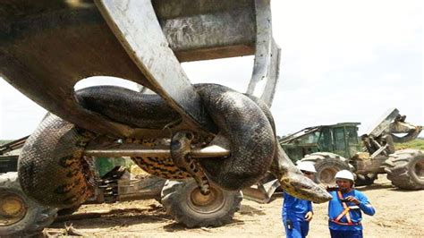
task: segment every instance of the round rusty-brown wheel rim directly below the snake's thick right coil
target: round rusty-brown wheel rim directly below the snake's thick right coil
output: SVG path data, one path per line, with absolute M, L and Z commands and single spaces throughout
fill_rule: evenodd
M 211 214 L 220 210 L 225 205 L 225 197 L 223 191 L 211 186 L 208 195 L 201 194 L 199 188 L 191 191 L 190 198 L 187 201 L 188 206 L 201 214 Z

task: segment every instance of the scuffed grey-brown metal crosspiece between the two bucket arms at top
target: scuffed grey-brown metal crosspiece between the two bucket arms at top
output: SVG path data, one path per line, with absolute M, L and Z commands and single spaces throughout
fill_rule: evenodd
M 255 54 L 254 1 L 152 3 L 169 46 L 181 62 Z

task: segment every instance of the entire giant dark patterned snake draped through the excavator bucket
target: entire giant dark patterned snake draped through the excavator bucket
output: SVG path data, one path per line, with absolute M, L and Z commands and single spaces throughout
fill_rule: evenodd
M 271 170 L 285 191 L 318 202 L 329 199 L 326 191 L 301 175 L 277 145 L 272 115 L 258 98 L 216 84 L 194 87 L 219 134 L 230 142 L 229 157 L 195 160 L 208 180 L 226 190 L 242 190 Z M 132 127 L 161 129 L 181 120 L 159 96 L 130 89 L 96 86 L 76 91 L 75 97 L 84 108 Z M 97 136 L 48 114 L 21 151 L 18 170 L 22 190 L 38 202 L 58 208 L 87 200 L 93 185 L 83 151 Z M 148 173 L 165 178 L 183 179 L 193 173 L 169 157 L 132 159 Z

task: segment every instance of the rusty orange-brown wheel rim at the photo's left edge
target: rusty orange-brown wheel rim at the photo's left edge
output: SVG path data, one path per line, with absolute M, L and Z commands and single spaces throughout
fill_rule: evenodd
M 0 194 L 0 226 L 13 225 L 25 217 L 26 213 L 25 202 L 20 196 L 12 192 Z

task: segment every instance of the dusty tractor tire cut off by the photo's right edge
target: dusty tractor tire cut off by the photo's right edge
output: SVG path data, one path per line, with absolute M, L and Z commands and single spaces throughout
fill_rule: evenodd
M 405 190 L 424 189 L 424 151 L 402 149 L 391 154 L 385 161 L 387 179 L 394 186 Z

